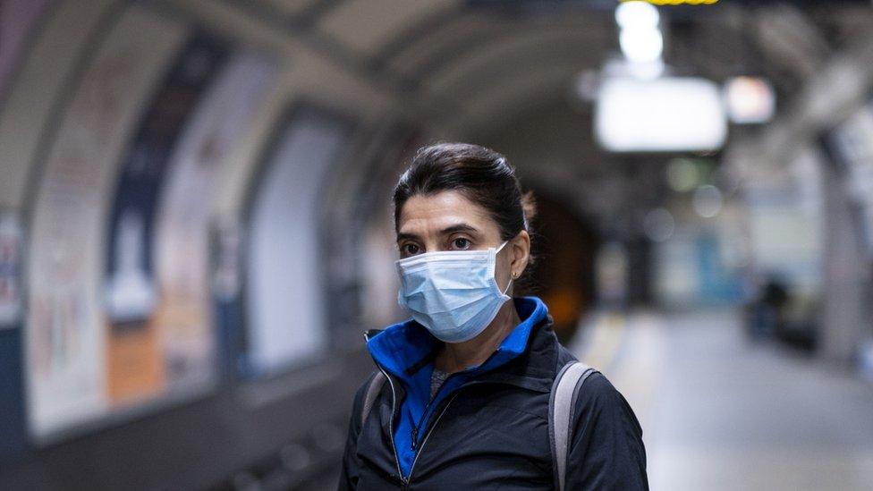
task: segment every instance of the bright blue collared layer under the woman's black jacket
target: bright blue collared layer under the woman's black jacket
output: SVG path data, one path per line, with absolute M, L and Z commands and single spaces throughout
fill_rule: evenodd
M 548 314 L 546 304 L 537 297 L 513 298 L 513 302 L 521 324 L 506 335 L 496 351 L 482 364 L 467 367 L 446 378 L 432 401 L 430 377 L 434 371 L 433 357 L 435 349 L 442 342 L 427 328 L 409 319 L 386 327 L 367 342 L 373 360 L 400 379 L 406 388 L 399 422 L 394 427 L 394 446 L 404 477 L 410 474 L 415 453 L 424 437 L 424 429 L 439 402 L 464 383 L 523 353 L 528 345 L 530 329 Z

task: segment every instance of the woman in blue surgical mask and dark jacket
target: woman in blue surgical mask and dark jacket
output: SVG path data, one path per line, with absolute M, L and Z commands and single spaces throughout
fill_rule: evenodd
M 413 157 L 394 189 L 398 301 L 412 318 L 368 333 L 378 369 L 354 398 L 340 489 L 556 487 L 549 394 L 575 359 L 542 301 L 512 297 L 532 213 L 488 148 L 438 143 Z M 595 372 L 573 404 L 564 489 L 648 489 L 622 394 Z

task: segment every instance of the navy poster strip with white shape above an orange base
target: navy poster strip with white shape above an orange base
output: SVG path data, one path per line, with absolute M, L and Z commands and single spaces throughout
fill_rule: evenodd
M 222 44 L 202 34 L 192 36 L 166 72 L 123 157 L 106 230 L 104 280 L 106 377 L 114 404 L 154 398 L 191 370 L 209 372 L 208 366 L 199 366 L 208 363 L 205 353 L 192 357 L 200 363 L 191 357 L 165 359 L 167 325 L 171 329 L 178 324 L 188 326 L 198 319 L 178 318 L 177 310 L 168 309 L 168 292 L 161 290 L 157 276 L 156 233 L 158 199 L 174 190 L 174 182 L 168 179 L 174 148 L 226 56 Z M 186 245 L 182 243 L 184 249 L 174 252 L 195 253 Z M 198 258 L 191 259 L 196 262 Z M 182 302 L 187 305 L 186 299 Z M 200 337 L 204 335 L 208 331 Z

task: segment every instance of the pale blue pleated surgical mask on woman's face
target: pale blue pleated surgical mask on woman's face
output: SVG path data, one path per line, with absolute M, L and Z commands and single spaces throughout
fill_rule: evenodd
M 446 250 L 418 254 L 396 262 L 400 275 L 397 302 L 430 334 L 445 343 L 468 341 L 491 324 L 504 302 L 494 276 L 497 252 Z

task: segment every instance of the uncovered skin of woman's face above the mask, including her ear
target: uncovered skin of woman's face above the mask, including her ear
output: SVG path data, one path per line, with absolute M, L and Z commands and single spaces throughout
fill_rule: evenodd
M 397 224 L 401 258 L 437 250 L 486 250 L 502 242 L 487 210 L 452 190 L 411 196 Z M 504 288 L 513 272 L 521 275 L 529 258 L 530 236 L 521 231 L 497 254 L 497 285 Z

